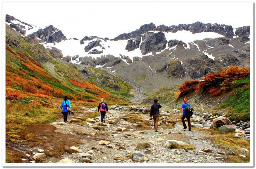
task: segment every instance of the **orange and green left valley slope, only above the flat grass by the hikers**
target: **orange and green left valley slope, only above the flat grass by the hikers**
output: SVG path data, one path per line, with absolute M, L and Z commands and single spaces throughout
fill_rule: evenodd
M 23 100 L 45 96 L 97 104 L 100 98 L 126 102 L 131 86 L 96 68 L 65 65 L 29 37 L 6 26 L 6 99 Z

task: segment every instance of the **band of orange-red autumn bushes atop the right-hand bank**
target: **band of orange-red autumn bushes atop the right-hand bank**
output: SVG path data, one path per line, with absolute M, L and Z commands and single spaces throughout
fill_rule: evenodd
M 250 76 L 250 68 L 230 66 L 225 70 L 211 73 L 202 80 L 186 81 L 179 87 L 178 97 L 191 92 L 209 92 L 212 96 L 218 96 L 223 91 L 229 90 L 231 82 Z

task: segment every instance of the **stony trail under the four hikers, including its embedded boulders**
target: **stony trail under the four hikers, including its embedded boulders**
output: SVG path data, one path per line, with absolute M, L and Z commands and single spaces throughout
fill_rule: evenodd
M 129 110 L 129 106 L 116 106 L 111 106 L 106 115 L 106 123 L 100 122 L 100 116 L 87 119 L 85 125 L 76 123 L 85 113 L 93 112 L 96 108 L 80 108 L 77 113 L 68 116 L 67 123 L 62 122 L 62 119 L 53 122 L 52 124 L 57 127 L 56 137 L 58 132 L 69 134 L 71 137 L 79 135 L 84 144 L 70 147 L 77 153 L 64 153 L 60 158 L 47 157 L 43 162 L 223 163 L 227 159 L 227 152 L 209 139 L 213 135 L 194 128 L 192 131 L 183 130 L 178 119 L 179 110 L 175 109 L 168 113 L 162 111 L 156 133 L 152 126 L 153 120 L 149 120 L 149 114 L 143 114 L 147 107 L 136 105 L 135 111 Z M 142 117 L 143 122 L 129 122 L 132 117 Z M 202 120 L 200 118 L 194 115 L 195 121 Z M 147 125 L 144 126 L 142 123 Z M 175 148 L 177 145 L 181 147 Z M 168 148 L 170 146 L 171 148 Z M 38 150 L 33 151 L 33 154 L 38 153 Z

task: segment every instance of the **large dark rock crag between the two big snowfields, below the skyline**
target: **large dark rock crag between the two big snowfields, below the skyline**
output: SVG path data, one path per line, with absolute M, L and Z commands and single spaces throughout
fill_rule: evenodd
M 141 54 L 145 55 L 149 52 L 160 52 L 166 48 L 167 40 L 164 33 L 148 32 L 142 35 L 142 43 L 140 45 Z

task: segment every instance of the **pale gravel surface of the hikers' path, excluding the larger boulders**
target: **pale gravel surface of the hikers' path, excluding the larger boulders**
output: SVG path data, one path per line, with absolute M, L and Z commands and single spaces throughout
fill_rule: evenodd
M 138 107 L 139 108 L 139 107 Z M 96 108 L 95 108 L 96 109 Z M 222 151 L 221 148 L 214 146 L 214 144 L 208 139 L 211 137 L 209 134 L 205 134 L 202 131 L 183 131 L 181 123 L 176 123 L 173 129 L 164 129 L 164 124 L 159 126 L 159 132 L 154 132 L 153 128 L 142 129 L 135 127 L 133 123 L 123 120 L 121 117 L 125 117 L 129 114 L 140 115 L 143 119 L 148 120 L 148 114 L 142 114 L 137 112 L 130 112 L 127 107 L 123 107 L 124 110 L 109 110 L 107 113 L 107 121 L 114 121 L 116 125 L 110 127 L 104 126 L 105 131 L 98 131 L 92 127 L 97 126 L 97 122 L 100 122 L 100 116 L 93 118 L 95 123 L 89 123 L 91 125 L 80 126 L 75 123 L 70 123 L 71 119 L 79 118 L 84 115 L 85 112 L 93 111 L 94 109 L 83 109 L 84 113 L 71 115 L 68 117 L 68 126 L 55 125 L 57 127 L 56 132 L 71 135 L 81 135 L 85 144 L 81 145 L 79 149 L 80 153 L 86 153 L 89 150 L 93 150 L 90 154 L 90 161 L 92 163 L 222 163 L 225 157 L 217 153 Z M 173 117 L 161 116 L 161 120 L 173 119 Z M 59 119 L 62 121 L 62 119 Z M 152 121 L 150 121 L 152 123 Z M 99 124 L 99 123 L 98 123 Z M 116 131 L 119 128 L 125 127 L 128 131 Z M 138 132 L 142 131 L 143 132 Z M 171 134 L 168 132 L 171 131 Z M 157 141 L 162 138 L 161 141 Z M 113 148 L 109 148 L 105 145 L 99 145 L 101 140 L 109 141 Z M 195 146 L 194 150 L 185 149 L 167 149 L 163 144 L 167 140 L 181 140 L 190 143 Z M 137 149 L 135 143 L 149 142 L 150 148 Z M 201 149 L 209 148 L 212 152 L 201 152 Z M 130 159 L 130 154 L 133 151 L 139 151 L 147 157 L 147 161 L 135 161 Z M 120 160 L 115 160 L 114 157 L 120 157 Z M 62 158 L 69 158 L 75 163 L 83 163 L 85 157 L 81 157 L 79 153 L 63 154 Z M 50 158 L 50 162 L 58 162 L 61 158 Z

